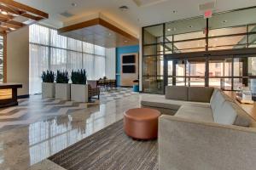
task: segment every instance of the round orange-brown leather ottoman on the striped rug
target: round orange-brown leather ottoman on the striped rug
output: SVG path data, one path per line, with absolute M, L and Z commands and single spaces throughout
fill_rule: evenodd
M 125 133 L 133 139 L 156 139 L 160 111 L 136 108 L 125 111 Z

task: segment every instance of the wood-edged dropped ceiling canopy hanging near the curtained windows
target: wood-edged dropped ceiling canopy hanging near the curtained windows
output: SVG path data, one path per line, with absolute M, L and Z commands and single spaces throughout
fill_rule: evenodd
M 105 48 L 137 45 L 137 37 L 119 29 L 102 19 L 88 20 L 58 30 L 62 36 L 90 42 Z M 79 36 L 77 36 L 79 35 Z

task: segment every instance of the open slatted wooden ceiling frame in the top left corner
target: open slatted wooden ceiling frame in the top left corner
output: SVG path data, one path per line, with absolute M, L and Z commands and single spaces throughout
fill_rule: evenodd
M 1 34 L 15 31 L 49 17 L 43 11 L 11 0 L 0 0 L 0 9 L 0 25 L 6 28 L 5 31 L 1 31 Z

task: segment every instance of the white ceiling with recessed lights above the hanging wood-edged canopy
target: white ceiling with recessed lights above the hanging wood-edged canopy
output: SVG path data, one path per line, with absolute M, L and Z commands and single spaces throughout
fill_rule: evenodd
M 44 24 L 60 28 L 63 23 L 77 20 L 83 16 L 102 13 L 109 19 L 128 28 L 134 34 L 139 35 L 142 26 L 151 26 L 172 20 L 201 15 L 199 4 L 211 2 L 212 0 L 166 0 L 151 5 L 138 6 L 132 0 L 16 0 L 33 8 L 38 8 L 49 14 L 49 20 Z M 152 0 L 143 0 L 150 1 Z M 73 7 L 72 3 L 77 6 Z M 148 3 L 149 4 L 149 3 Z M 121 11 L 120 6 L 126 5 L 129 10 Z M 222 12 L 235 8 L 246 8 L 256 6 L 256 0 L 217 0 L 214 12 Z M 173 13 L 173 11 L 177 13 Z M 69 12 L 73 17 L 65 18 L 60 14 Z M 254 17 L 254 16 L 248 16 Z

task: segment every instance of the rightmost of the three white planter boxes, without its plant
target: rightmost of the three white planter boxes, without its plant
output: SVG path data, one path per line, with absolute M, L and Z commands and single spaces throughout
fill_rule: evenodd
M 88 85 L 71 84 L 71 100 L 87 103 Z

